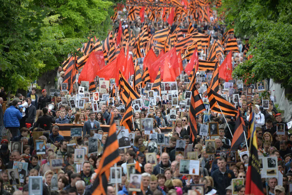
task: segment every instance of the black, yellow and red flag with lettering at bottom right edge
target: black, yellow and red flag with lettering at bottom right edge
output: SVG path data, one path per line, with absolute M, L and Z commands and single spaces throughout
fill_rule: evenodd
M 253 114 L 254 116 L 254 114 Z M 263 184 L 260 177 L 260 160 L 258 159 L 258 143 L 256 129 L 253 121 L 253 132 L 251 133 L 250 155 L 246 172 L 245 194 L 264 195 Z

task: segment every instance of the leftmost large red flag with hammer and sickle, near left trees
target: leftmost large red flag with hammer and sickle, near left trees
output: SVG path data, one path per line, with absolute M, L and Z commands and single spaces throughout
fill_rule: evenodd
M 79 83 L 81 81 L 93 81 L 97 72 L 105 66 L 105 59 L 103 58 L 103 51 L 91 52 L 86 61 L 80 75 Z

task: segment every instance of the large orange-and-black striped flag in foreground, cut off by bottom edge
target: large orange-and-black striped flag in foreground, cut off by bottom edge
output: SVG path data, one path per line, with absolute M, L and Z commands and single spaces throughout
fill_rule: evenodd
M 114 114 L 112 114 L 112 119 L 113 116 Z M 116 123 L 112 123 L 109 128 L 107 140 L 103 146 L 104 149 L 99 167 L 95 169 L 97 176 L 91 188 L 92 195 L 107 194 L 107 181 L 110 174 L 110 168 L 121 159 L 119 156 L 119 143 L 117 140 L 116 130 Z

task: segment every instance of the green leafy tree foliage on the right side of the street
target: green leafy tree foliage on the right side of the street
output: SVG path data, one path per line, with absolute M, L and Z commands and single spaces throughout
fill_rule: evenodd
M 250 37 L 248 55 L 233 75 L 249 83 L 272 78 L 292 86 L 292 4 L 288 0 L 224 0 L 220 11 L 236 36 Z

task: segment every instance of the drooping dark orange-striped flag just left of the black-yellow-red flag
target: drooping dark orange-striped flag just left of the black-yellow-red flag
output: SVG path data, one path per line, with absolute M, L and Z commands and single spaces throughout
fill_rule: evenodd
M 242 118 L 240 108 L 238 106 L 235 127 L 234 127 L 234 134 L 233 134 L 230 150 L 237 150 L 240 144 L 244 142 L 245 140 L 244 133 L 243 133 L 244 131 L 246 131 L 246 126 L 245 126 L 244 119 Z

